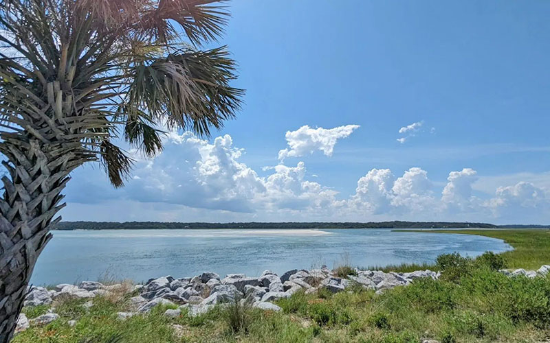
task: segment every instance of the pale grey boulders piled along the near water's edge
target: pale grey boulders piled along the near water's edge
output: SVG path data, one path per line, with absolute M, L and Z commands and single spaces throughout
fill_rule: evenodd
M 544 276 L 550 272 L 550 265 L 543 265 L 538 270 L 501 270 L 509 276 L 525 275 L 529 278 Z M 166 316 L 177 317 L 182 311 L 189 316 L 197 316 L 212 309 L 215 305 L 227 305 L 239 301 L 260 309 L 280 311 L 281 308 L 272 303 L 274 300 L 288 298 L 295 292 L 318 292 L 326 289 L 328 292 L 342 292 L 351 286 L 372 289 L 378 294 L 385 289 L 406 286 L 421 278 L 439 279 L 440 273 L 431 270 L 397 273 L 380 270 L 358 270 L 349 268 L 349 274 L 339 277 L 341 270 L 329 270 L 326 266 L 312 270 L 289 270 L 278 276 L 271 270 L 265 270 L 259 277 L 245 274 L 228 274 L 221 279 L 214 272 L 203 272 L 193 277 L 175 279 L 172 276 L 162 276 L 150 279 L 144 285 L 131 283 L 116 283 L 104 285 L 96 281 L 83 281 L 80 285 L 60 284 L 53 289 L 32 286 L 28 289 L 24 305 L 27 307 L 52 305 L 56 300 L 86 299 L 82 306 L 89 308 L 94 305 L 96 296 L 112 294 L 131 294 L 128 300 L 128 311 L 118 312 L 118 320 L 131 316 L 146 314 L 157 305 L 178 306 L 168 309 Z M 55 307 L 50 307 L 47 314 L 28 320 L 21 314 L 17 321 L 16 332 L 19 333 L 32 325 L 44 325 L 59 316 Z M 76 321 L 69 320 L 69 325 Z

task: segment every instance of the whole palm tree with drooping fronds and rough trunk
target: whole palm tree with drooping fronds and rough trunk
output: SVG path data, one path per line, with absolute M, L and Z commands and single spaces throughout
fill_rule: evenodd
M 155 156 L 159 128 L 204 137 L 234 117 L 235 63 L 204 48 L 228 18 L 217 2 L 0 0 L 0 343 L 71 171 L 97 161 L 121 187 L 132 159 L 117 143 Z

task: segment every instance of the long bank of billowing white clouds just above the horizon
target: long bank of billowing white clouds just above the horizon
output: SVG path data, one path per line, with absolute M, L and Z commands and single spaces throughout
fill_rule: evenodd
M 315 175 L 308 173 L 302 161 L 265 168 L 267 175 L 259 176 L 241 161 L 243 154 L 228 134 L 207 141 L 189 132 L 171 132 L 162 154 L 152 159 L 136 156 L 133 177 L 123 189 L 112 189 L 101 171 L 86 167 L 77 171 L 78 182 L 69 182 L 67 200 L 73 209 L 131 202 L 127 211 L 144 209 L 140 215 L 159 215 L 147 219 L 127 213 L 136 220 L 490 222 L 498 218 L 518 222 L 518 218 L 533 218 L 544 222 L 550 217 L 548 189 L 518 182 L 498 187 L 493 196 L 483 196 L 481 191 L 474 196 L 472 185 L 478 175 L 470 168 L 451 171 L 441 197 L 428 172 L 420 167 L 411 167 L 398 177 L 390 169 L 371 169 L 359 178 L 355 193 L 340 196 L 311 180 Z

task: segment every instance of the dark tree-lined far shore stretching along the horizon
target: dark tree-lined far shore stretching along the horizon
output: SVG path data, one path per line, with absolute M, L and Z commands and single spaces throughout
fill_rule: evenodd
M 394 228 L 394 229 L 461 229 L 461 228 L 550 228 L 544 225 L 494 225 L 470 222 L 60 222 L 56 230 L 198 230 L 198 229 L 338 229 L 338 228 Z

